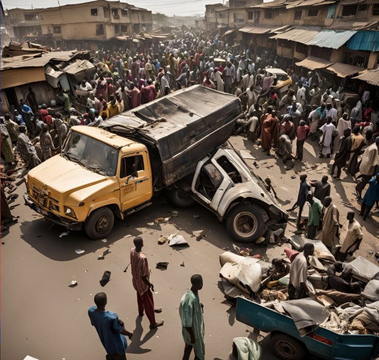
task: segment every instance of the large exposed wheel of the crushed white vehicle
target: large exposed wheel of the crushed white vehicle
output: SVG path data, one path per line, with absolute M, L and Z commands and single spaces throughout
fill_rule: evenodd
M 241 243 L 250 243 L 262 236 L 263 209 L 257 205 L 239 204 L 226 217 L 229 235 Z

